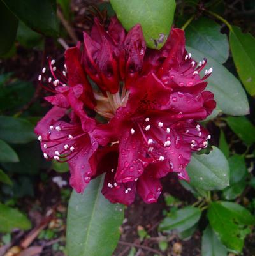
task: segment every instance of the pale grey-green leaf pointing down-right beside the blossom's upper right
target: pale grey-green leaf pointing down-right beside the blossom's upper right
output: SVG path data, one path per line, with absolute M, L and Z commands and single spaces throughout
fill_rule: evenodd
M 207 79 L 207 89 L 214 93 L 218 109 L 232 116 L 249 114 L 247 96 L 239 80 L 222 64 L 201 52 L 199 45 L 196 49 L 187 45 L 186 49 L 193 54 L 196 61 L 202 60 L 204 57 L 207 58 L 207 67 L 214 68 L 214 72 Z

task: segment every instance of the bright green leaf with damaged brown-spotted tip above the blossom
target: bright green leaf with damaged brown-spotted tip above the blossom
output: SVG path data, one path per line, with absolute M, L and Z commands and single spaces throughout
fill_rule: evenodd
M 148 47 L 160 49 L 164 45 L 173 24 L 175 0 L 110 0 L 110 3 L 126 30 L 139 23 Z

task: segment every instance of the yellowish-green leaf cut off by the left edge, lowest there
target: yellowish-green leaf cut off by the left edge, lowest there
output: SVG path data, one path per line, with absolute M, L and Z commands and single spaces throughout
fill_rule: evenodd
M 27 230 L 31 222 L 17 209 L 0 204 L 0 232 L 11 232 L 13 229 Z

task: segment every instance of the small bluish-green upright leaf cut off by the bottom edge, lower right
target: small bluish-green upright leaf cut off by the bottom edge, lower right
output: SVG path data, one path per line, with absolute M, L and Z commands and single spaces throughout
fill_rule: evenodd
M 202 256 L 226 256 L 228 251 L 226 246 L 222 245 L 214 230 L 207 226 L 202 237 Z

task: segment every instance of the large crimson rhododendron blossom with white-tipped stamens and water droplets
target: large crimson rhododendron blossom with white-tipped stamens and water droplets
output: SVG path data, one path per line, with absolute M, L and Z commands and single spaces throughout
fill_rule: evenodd
M 105 173 L 102 193 L 110 202 L 131 204 L 136 192 L 156 202 L 160 179 L 175 172 L 189 181 L 191 153 L 210 139 L 197 123 L 215 108 L 204 91 L 212 68 L 200 77 L 206 63 L 186 51 L 182 29 L 171 29 L 153 50 L 139 24 L 126 34 L 116 17 L 107 30 L 95 19 L 83 45 L 66 50 L 64 70 L 49 59 L 51 76 L 43 68 L 38 77 L 54 93 L 35 128 L 43 155 L 68 162 L 78 193 Z

